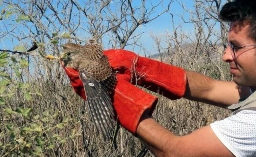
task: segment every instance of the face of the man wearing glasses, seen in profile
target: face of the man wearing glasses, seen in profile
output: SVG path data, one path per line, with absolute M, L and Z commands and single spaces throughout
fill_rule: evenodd
M 231 23 L 227 37 L 234 47 L 253 45 L 255 42 L 248 37 L 249 25 Z M 235 48 L 235 59 L 231 46 L 227 46 L 222 57 L 228 62 L 233 80 L 239 85 L 256 89 L 256 46 Z

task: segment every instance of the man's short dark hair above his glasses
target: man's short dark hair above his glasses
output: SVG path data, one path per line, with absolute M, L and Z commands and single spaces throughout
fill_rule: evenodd
M 234 0 L 226 3 L 219 14 L 225 22 L 242 22 L 250 25 L 249 38 L 256 41 L 256 0 Z

